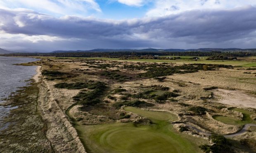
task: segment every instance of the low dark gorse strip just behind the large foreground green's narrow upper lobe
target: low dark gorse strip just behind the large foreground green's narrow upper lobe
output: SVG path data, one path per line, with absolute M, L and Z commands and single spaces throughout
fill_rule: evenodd
M 153 104 L 145 101 L 134 100 L 134 101 L 116 102 L 113 104 L 113 106 L 116 108 L 119 108 L 122 106 L 142 107 L 142 106 L 153 106 Z

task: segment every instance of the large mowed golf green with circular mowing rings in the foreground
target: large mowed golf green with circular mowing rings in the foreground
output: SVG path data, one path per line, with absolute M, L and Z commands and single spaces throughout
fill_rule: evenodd
M 151 125 L 113 123 L 104 125 L 76 125 L 79 137 L 88 152 L 92 153 L 196 153 L 199 138 L 187 138 L 174 132 L 169 121 L 177 116 L 168 112 L 144 111 L 126 107 L 133 113 L 148 117 Z M 194 144 L 198 140 L 199 144 Z

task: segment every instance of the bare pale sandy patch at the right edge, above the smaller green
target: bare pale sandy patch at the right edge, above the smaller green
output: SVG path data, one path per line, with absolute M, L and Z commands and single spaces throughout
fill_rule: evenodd
M 222 104 L 256 109 L 256 97 L 239 90 L 217 89 L 213 91 Z

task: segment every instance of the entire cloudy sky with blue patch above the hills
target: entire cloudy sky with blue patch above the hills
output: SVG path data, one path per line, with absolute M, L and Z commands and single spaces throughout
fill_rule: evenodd
M 256 48 L 256 0 L 0 0 L 0 48 Z

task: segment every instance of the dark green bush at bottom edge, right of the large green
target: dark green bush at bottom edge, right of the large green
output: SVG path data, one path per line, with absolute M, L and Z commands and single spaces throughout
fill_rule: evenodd
M 213 145 L 201 145 L 201 150 L 205 153 L 234 153 L 231 143 L 225 137 L 212 135 L 211 141 L 214 143 Z

